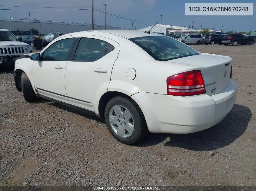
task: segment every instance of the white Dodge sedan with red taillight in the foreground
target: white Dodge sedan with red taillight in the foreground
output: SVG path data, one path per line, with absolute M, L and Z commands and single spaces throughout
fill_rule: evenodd
M 26 101 L 45 98 L 105 118 L 125 144 L 148 131 L 208 129 L 227 116 L 237 94 L 231 57 L 198 53 L 157 33 L 69 33 L 23 56 L 14 78 Z

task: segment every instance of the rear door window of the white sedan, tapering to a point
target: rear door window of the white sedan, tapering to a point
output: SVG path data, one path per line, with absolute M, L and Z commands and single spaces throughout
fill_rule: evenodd
M 74 61 L 93 62 L 114 50 L 114 46 L 98 39 L 81 38 Z

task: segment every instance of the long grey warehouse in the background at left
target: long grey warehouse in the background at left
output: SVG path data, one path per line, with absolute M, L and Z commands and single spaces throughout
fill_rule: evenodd
M 57 21 L 39 21 L 29 20 L 26 18 L 0 18 L 0 28 L 8 29 L 16 34 L 18 30 L 20 34 L 30 34 L 30 21 L 31 27 L 38 30 L 40 34 L 61 31 L 62 33 L 72 33 L 84 30 L 92 30 L 91 24 L 81 23 L 68 23 Z M 94 24 L 94 30 L 105 29 L 105 25 Z M 120 27 L 113 27 L 106 25 L 106 29 L 121 29 Z

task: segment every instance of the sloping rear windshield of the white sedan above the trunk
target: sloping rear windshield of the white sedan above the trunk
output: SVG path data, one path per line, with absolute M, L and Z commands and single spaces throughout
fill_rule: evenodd
M 129 40 L 144 49 L 155 60 L 167 61 L 200 54 L 190 46 L 165 36 L 138 37 Z

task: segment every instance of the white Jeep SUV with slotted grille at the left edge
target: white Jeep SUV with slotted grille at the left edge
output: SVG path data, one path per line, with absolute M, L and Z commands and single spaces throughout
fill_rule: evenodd
M 32 53 L 32 48 L 28 44 L 19 42 L 9 30 L 0 29 L 0 68 L 14 67 L 15 60 L 28 53 Z

